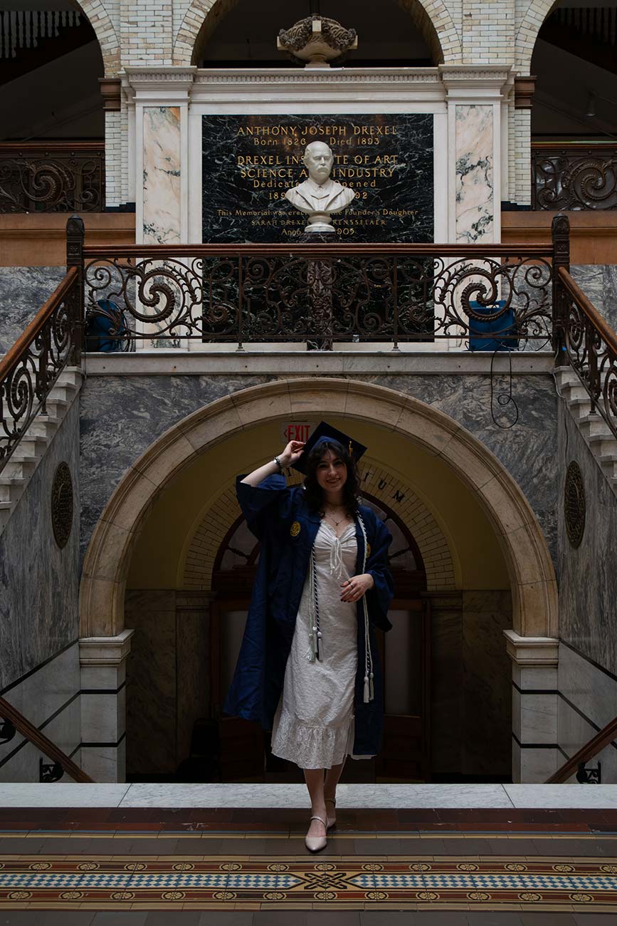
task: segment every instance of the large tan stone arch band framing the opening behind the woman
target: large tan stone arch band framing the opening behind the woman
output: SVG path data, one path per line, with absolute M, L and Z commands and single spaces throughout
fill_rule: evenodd
M 197 454 L 257 421 L 319 414 L 379 422 L 450 465 L 476 495 L 493 526 L 512 588 L 513 628 L 557 635 L 557 584 L 536 516 L 518 484 L 487 447 L 456 421 L 419 399 L 353 380 L 279 380 L 242 389 L 179 421 L 127 470 L 88 546 L 80 586 L 80 636 L 124 629 L 132 549 L 167 481 Z

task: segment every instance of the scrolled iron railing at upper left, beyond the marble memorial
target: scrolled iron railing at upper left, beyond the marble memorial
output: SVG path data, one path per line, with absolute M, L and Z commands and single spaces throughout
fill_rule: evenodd
M 0 143 L 0 213 L 101 212 L 101 142 Z

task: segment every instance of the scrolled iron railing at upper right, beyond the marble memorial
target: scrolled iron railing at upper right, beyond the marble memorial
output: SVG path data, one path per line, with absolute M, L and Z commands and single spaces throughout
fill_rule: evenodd
M 617 143 L 534 143 L 531 179 L 534 209 L 617 209 Z

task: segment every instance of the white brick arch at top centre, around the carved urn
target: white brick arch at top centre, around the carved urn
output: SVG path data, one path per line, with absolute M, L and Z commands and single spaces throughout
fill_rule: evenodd
M 220 19 L 238 0 L 191 0 L 176 36 L 173 63 L 194 65 Z M 436 64 L 461 60 L 461 39 L 444 0 L 403 0 L 413 24 L 421 32 Z

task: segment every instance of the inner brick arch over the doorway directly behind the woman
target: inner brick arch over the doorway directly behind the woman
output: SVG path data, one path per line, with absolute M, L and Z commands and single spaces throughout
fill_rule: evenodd
M 257 465 L 259 461 L 255 461 L 255 466 Z M 364 490 L 377 501 L 387 502 L 390 472 L 382 469 L 377 460 L 368 456 L 363 457 L 363 466 L 371 470 L 370 484 L 363 483 Z M 382 480 L 385 489 L 380 489 Z M 300 475 L 294 472 L 291 482 L 301 482 Z M 397 480 L 398 484 L 401 482 L 401 479 Z M 209 505 L 201 511 L 196 519 L 197 527 L 192 532 L 191 541 L 185 548 L 180 562 L 180 588 L 203 592 L 212 589 L 212 572 L 218 548 L 239 514 L 240 507 L 236 500 L 234 481 L 229 480 L 214 505 Z M 455 572 L 460 569 L 452 557 L 448 538 L 426 502 L 415 494 L 409 485 L 405 486 L 405 498 L 399 515 L 413 534 L 413 539 L 422 554 L 427 590 L 454 591 L 457 587 Z

